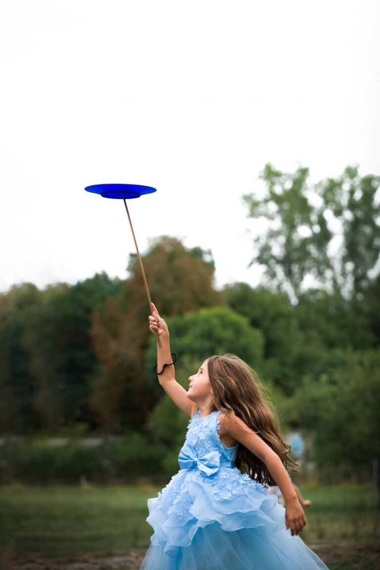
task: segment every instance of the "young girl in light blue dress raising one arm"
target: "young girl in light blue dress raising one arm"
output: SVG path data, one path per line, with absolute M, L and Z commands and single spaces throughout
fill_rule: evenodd
M 140 570 L 326 569 L 296 536 L 306 519 L 284 467 L 290 449 L 255 373 L 235 356 L 211 356 L 186 392 L 175 381 L 169 330 L 152 307 L 160 384 L 191 421 L 181 469 L 148 501 L 154 534 Z M 285 509 L 265 484 L 280 487 Z

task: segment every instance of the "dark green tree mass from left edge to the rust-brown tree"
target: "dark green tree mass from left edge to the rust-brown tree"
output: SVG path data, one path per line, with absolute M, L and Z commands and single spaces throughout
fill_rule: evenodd
M 89 338 L 92 311 L 119 287 L 102 274 L 45 291 L 22 284 L 0 296 L 3 429 L 91 421 L 87 399 L 97 367 Z

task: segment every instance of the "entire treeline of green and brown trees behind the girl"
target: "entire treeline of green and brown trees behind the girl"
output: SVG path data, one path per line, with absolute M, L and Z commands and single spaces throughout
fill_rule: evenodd
M 260 200 L 244 197 L 250 217 L 268 222 L 252 259 L 265 269 L 260 287 L 216 290 L 210 251 L 175 238 L 143 256 L 178 380 L 213 353 L 235 353 L 271 390 L 284 428 L 313 433 L 319 465 L 368 462 L 380 455 L 379 177 L 348 168 L 310 186 L 307 169 L 271 165 L 261 177 Z M 124 282 L 97 274 L 0 296 L 3 434 L 133 434 L 174 468 L 187 418 L 153 373 L 135 256 L 128 270 Z

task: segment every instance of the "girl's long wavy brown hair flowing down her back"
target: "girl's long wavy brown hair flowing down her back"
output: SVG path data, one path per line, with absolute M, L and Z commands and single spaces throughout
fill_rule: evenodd
M 215 410 L 224 410 L 233 421 L 243 422 L 279 455 L 286 469 L 297 465 L 290 455 L 291 446 L 281 437 L 279 420 L 258 375 L 235 355 L 211 356 L 207 360 Z M 247 447 L 239 444 L 236 467 L 259 483 L 275 485 L 267 466 Z

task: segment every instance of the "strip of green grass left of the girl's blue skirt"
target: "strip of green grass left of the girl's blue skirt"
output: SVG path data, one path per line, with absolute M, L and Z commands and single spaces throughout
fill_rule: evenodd
M 146 487 L 0 488 L 0 542 L 13 558 L 147 547 Z

